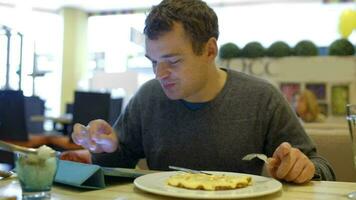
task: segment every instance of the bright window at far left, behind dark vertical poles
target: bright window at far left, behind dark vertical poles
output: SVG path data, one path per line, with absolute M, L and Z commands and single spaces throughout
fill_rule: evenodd
M 46 100 L 49 114 L 59 115 L 61 90 L 62 60 L 62 17 L 56 13 L 33 11 L 30 7 L 0 6 L 1 25 L 23 35 L 22 83 L 21 89 L 26 96 L 37 95 Z M 16 36 L 16 34 L 13 34 Z M 0 37 L 0 73 L 6 69 L 4 65 L 4 36 Z M 10 51 L 10 87 L 18 89 L 17 70 L 20 57 L 20 40 L 11 37 Z M 5 47 L 6 48 L 6 47 Z M 33 70 L 37 62 L 37 72 L 44 76 L 35 78 L 33 88 Z M 44 73 L 48 72 L 48 73 Z M 0 87 L 4 86 L 1 75 Z M 50 83 L 50 84 L 49 84 Z

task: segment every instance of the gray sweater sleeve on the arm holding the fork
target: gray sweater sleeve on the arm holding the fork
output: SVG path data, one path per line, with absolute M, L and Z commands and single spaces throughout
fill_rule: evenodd
M 317 153 L 314 142 L 306 134 L 297 116 L 276 89 L 273 90 L 264 115 L 267 131 L 265 152 L 272 156 L 275 149 L 283 142 L 289 142 L 301 150 L 313 162 L 316 175 L 321 180 L 334 181 L 335 174 L 329 162 Z

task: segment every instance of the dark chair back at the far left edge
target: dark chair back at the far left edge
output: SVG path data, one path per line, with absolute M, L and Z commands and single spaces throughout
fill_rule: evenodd
M 0 139 L 28 140 L 22 91 L 0 90 Z

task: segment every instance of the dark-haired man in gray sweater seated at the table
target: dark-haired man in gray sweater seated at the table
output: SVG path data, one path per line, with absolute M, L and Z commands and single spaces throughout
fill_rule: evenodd
M 206 3 L 163 0 L 144 33 L 156 79 L 139 89 L 114 128 L 103 120 L 74 127 L 74 142 L 92 152 L 94 163 L 134 167 L 146 158 L 154 170 L 261 174 L 263 162 L 241 158 L 265 153 L 275 178 L 335 179 L 276 88 L 216 66 L 218 20 Z

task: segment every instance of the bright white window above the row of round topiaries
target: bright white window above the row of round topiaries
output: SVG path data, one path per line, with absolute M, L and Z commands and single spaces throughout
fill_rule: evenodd
M 329 46 L 340 38 L 339 17 L 354 3 L 265 3 L 216 7 L 219 17 L 219 44 L 234 42 L 239 47 L 258 41 L 265 47 L 282 40 L 294 46 L 311 40 L 317 46 Z M 349 38 L 356 43 L 356 33 Z M 220 46 L 219 45 L 219 46 Z

